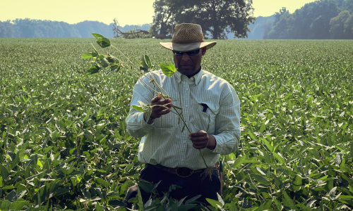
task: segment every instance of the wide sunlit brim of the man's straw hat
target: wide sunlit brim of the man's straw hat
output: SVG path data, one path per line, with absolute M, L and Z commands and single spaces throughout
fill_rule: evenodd
M 160 42 L 160 45 L 163 46 L 166 49 L 172 50 L 172 51 L 193 51 L 197 49 L 202 49 L 203 47 L 207 47 L 207 49 L 212 48 L 217 44 L 217 41 L 211 41 L 211 42 L 194 42 L 190 44 L 177 44 L 177 43 L 172 43 L 172 42 Z

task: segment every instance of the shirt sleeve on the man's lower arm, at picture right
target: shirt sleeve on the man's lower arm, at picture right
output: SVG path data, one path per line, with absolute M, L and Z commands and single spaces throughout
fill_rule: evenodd
M 222 99 L 220 112 L 216 117 L 215 139 L 217 145 L 213 153 L 229 155 L 237 151 L 240 141 L 240 101 L 236 91 L 230 92 Z

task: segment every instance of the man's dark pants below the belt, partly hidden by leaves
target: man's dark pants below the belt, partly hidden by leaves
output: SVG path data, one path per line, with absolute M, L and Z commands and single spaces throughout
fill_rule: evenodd
M 176 188 L 169 193 L 169 197 L 172 197 L 177 200 L 181 200 L 188 196 L 185 200 L 189 198 L 193 198 L 194 196 L 201 195 L 200 198 L 197 199 L 198 202 L 205 203 L 209 205 L 206 198 L 210 198 L 213 200 L 217 200 L 217 193 L 220 192 L 220 178 L 218 176 L 218 171 L 210 177 L 204 177 L 202 172 L 191 174 L 190 177 L 179 177 L 177 174 L 169 173 L 165 170 L 155 167 L 154 165 L 146 164 L 145 168 L 140 172 L 140 179 L 145 181 L 152 182 L 152 184 L 157 184 L 159 181 L 156 190 L 158 196 L 162 198 L 164 193 L 169 191 L 169 186 L 172 184 L 181 186 L 181 188 Z M 131 188 L 128 191 L 128 196 L 126 199 L 136 197 L 137 188 Z M 136 192 L 136 193 L 134 193 Z M 150 198 L 151 193 L 146 193 L 140 188 L 141 196 L 143 198 L 143 202 L 147 202 Z M 184 201 L 185 201 L 184 200 Z

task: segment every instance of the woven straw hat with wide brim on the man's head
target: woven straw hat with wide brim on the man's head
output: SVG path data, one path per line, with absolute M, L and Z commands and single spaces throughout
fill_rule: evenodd
M 205 42 L 201 25 L 193 23 L 181 23 L 175 26 L 172 42 L 160 42 L 160 44 L 172 51 L 193 51 L 207 46 L 212 48 L 217 41 Z

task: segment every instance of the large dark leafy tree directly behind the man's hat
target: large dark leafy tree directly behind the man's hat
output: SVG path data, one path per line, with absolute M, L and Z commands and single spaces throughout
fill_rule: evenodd
M 227 39 L 226 32 L 244 38 L 255 20 L 252 0 L 156 0 L 153 7 L 152 29 L 164 35 L 172 34 L 176 23 L 196 23 L 204 34 L 211 32 L 213 39 Z

